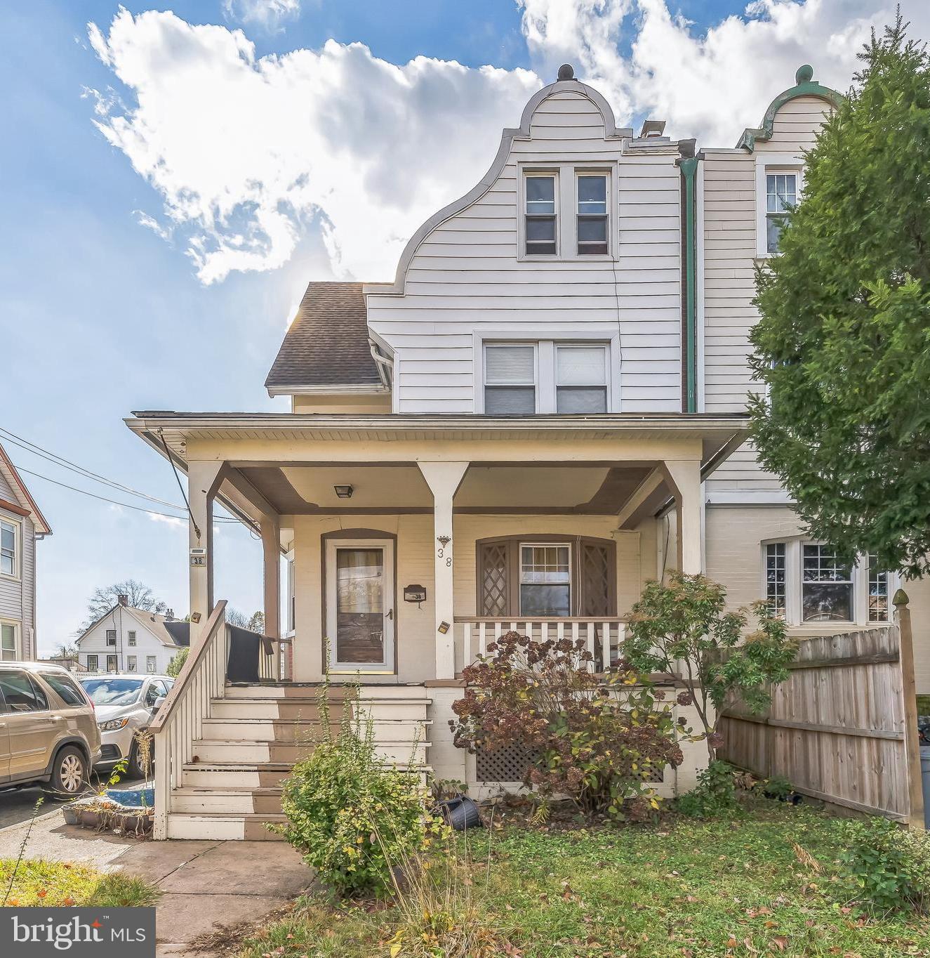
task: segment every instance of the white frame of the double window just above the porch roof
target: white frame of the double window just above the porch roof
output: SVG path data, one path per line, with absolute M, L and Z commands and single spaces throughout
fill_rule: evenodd
M 556 412 L 556 346 L 591 346 L 602 344 L 607 350 L 607 412 L 619 413 L 620 407 L 620 333 L 556 329 L 540 335 L 536 331 L 500 329 L 472 333 L 474 361 L 474 412 L 485 411 L 485 347 L 536 346 L 536 413 Z M 543 375 L 545 374 L 545 375 Z

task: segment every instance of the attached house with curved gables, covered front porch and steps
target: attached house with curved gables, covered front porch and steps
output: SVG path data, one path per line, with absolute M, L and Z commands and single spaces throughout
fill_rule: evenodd
M 362 682 L 385 757 L 481 795 L 516 757 L 467 755 L 447 722 L 503 631 L 581 639 L 607 669 L 672 568 L 767 598 L 798 634 L 887 618 L 890 577 L 806 542 L 745 445 L 754 268 L 838 102 L 803 67 L 735 148 L 698 149 L 617 126 L 562 67 L 393 282 L 308 285 L 266 380 L 288 412 L 126 421 L 190 490 L 193 651 L 153 726 L 159 836 L 262 836 L 327 669 Z M 216 500 L 261 536 L 264 636 L 224 626 Z M 688 749 L 655 787 L 692 787 L 704 761 Z

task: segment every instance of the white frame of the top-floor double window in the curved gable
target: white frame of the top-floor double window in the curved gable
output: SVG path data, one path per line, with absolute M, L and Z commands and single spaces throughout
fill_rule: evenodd
M 606 163 L 539 163 L 517 164 L 516 223 L 518 262 L 615 261 L 620 249 L 620 204 L 616 184 L 619 166 Z M 556 252 L 527 253 L 526 243 L 526 180 L 528 176 L 556 177 Z M 578 253 L 578 176 L 607 177 L 607 252 Z

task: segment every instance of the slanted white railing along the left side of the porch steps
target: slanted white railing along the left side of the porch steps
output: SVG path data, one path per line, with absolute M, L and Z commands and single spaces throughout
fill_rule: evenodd
M 154 837 L 168 837 L 173 789 L 181 785 L 184 764 L 193 758 L 210 701 L 223 695 L 229 655 L 226 601 L 216 603 L 174 685 L 148 726 L 155 737 Z

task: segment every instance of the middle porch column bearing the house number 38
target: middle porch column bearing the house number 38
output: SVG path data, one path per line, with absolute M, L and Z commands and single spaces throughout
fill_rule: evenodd
M 436 610 L 436 677 L 455 678 L 453 612 L 452 500 L 468 463 L 418 463 L 433 493 L 433 606 Z M 444 628 L 444 631 L 442 630 Z

